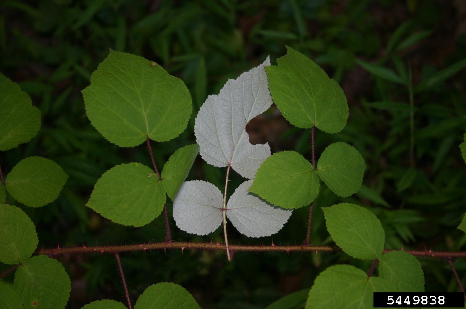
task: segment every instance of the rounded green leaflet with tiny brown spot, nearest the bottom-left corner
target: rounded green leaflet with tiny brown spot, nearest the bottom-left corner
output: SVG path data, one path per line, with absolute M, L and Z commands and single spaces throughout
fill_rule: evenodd
M 23 300 L 24 308 L 64 308 L 71 281 L 62 263 L 38 255 L 18 267 L 13 288 Z

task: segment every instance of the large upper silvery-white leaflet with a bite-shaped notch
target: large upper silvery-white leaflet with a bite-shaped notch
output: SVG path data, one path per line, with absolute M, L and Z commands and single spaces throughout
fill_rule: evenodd
M 199 110 L 194 126 L 202 158 L 217 167 L 231 167 L 246 178 L 254 178 L 260 164 L 270 155 L 268 144 L 252 145 L 246 124 L 272 104 L 265 66 L 228 80 L 219 95 L 209 95 Z

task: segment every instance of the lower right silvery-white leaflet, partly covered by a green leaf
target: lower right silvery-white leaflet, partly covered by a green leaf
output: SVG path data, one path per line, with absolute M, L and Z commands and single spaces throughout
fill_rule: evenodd
M 226 216 L 233 226 L 248 237 L 270 236 L 288 221 L 291 210 L 274 207 L 248 192 L 252 180 L 245 181 L 235 190 L 226 204 Z

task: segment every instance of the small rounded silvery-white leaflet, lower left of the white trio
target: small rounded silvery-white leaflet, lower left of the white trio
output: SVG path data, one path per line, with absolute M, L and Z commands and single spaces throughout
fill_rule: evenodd
M 178 228 L 197 235 L 215 231 L 223 220 L 223 196 L 206 181 L 185 181 L 173 201 L 173 219 Z

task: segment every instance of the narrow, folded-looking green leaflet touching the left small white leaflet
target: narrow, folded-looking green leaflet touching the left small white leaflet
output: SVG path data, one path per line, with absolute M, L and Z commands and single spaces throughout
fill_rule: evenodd
M 162 171 L 162 185 L 173 201 L 199 154 L 198 144 L 179 148 L 170 156 Z

